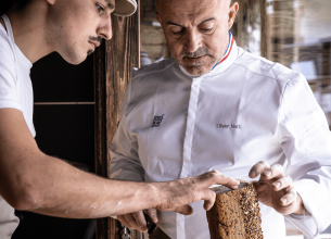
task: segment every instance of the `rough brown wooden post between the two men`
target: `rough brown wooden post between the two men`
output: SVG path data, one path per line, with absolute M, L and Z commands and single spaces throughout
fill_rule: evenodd
M 107 146 L 116 133 L 119 108 L 133 67 L 139 67 L 139 18 L 113 16 L 113 39 L 106 42 Z M 109 155 L 109 161 L 111 160 Z M 109 172 L 110 176 L 110 172 Z

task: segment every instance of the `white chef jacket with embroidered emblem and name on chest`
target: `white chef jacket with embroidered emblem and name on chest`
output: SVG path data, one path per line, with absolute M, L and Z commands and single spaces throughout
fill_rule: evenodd
M 259 161 L 281 164 L 311 216 L 287 216 L 306 234 L 331 223 L 331 134 L 300 73 L 235 41 L 195 77 L 173 59 L 133 70 L 111 146 L 111 177 L 168 181 L 217 169 L 240 179 Z M 189 216 L 158 213 L 173 239 L 209 238 L 203 202 Z M 260 204 L 265 239 L 285 238 L 284 218 Z

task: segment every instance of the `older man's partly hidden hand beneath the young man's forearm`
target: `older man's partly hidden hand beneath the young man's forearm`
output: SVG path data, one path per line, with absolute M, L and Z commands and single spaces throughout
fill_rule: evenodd
M 145 213 L 153 219 L 154 223 L 158 222 L 157 211 L 155 209 L 145 210 Z M 142 232 L 148 231 L 147 222 L 142 211 L 117 216 L 117 219 L 127 228 L 136 229 Z

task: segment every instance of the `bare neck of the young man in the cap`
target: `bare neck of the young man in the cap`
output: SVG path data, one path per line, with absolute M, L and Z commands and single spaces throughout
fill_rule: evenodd
M 14 40 L 23 54 L 35 63 L 51 53 L 53 49 L 47 43 L 46 13 L 47 1 L 30 1 L 24 10 L 10 10 Z M 44 3 L 43 3 L 44 2 Z

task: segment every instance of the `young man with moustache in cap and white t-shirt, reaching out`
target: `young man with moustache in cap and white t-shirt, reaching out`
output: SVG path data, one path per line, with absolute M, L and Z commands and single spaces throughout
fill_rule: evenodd
M 33 63 L 58 51 L 79 64 L 101 39 L 112 37 L 111 14 L 129 15 L 133 0 L 20 0 L 0 17 L 0 238 L 18 225 L 14 209 L 52 216 L 96 218 L 155 207 L 192 213 L 190 202 L 215 193 L 207 188 L 238 180 L 213 171 L 162 184 L 100 178 L 40 152 L 34 139 Z M 47 79 L 46 79 L 47 80 Z

